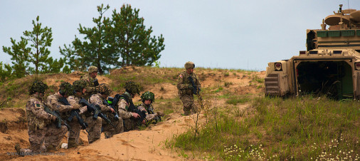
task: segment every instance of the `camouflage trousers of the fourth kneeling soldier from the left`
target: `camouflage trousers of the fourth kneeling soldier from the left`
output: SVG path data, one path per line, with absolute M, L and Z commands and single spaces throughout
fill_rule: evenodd
M 111 123 L 114 124 L 116 128 L 114 128 L 114 126 L 102 119 L 102 131 L 105 133 L 105 138 L 110 138 L 113 135 L 124 133 L 124 125 L 122 124 L 122 118 L 119 117 L 119 120 L 111 119 Z

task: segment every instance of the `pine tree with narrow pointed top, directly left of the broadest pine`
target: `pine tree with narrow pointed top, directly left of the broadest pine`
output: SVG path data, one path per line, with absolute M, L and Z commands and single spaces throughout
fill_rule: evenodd
M 110 19 L 104 16 L 105 12 L 110 8 L 109 5 L 97 6 L 97 11 L 100 16 L 92 21 L 95 23 L 95 26 L 92 28 L 86 28 L 81 26 L 78 28 L 80 34 L 84 34 L 84 41 L 81 41 L 80 38 L 75 37 L 73 41 L 73 48 L 69 46 L 68 48 L 60 48 L 60 52 L 69 58 L 74 63 L 69 63 L 70 68 L 75 70 L 80 68 L 84 70 L 86 66 L 97 66 L 99 73 L 102 74 L 107 71 L 110 66 L 118 66 L 117 60 L 119 59 L 119 54 L 114 54 L 111 52 L 111 48 L 107 41 L 108 28 L 110 27 Z M 80 64 L 79 64 L 80 63 Z

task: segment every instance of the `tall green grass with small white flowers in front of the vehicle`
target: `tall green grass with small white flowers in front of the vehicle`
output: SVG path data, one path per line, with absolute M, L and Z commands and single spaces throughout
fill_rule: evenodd
M 359 107 L 354 100 L 255 98 L 243 118 L 220 110 L 198 139 L 189 130 L 168 145 L 211 160 L 359 160 Z

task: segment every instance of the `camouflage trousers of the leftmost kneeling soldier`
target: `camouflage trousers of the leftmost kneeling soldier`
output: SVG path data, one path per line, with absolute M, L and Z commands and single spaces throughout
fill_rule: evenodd
M 47 152 L 48 150 L 58 150 L 60 142 L 65 136 L 68 128 L 62 125 L 56 128 L 55 124 L 50 124 L 43 129 L 28 130 L 29 149 L 20 149 L 22 153 Z

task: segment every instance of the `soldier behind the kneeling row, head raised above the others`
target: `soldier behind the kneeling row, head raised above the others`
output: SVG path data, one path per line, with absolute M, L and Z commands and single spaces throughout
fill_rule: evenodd
M 80 80 L 85 81 L 86 83 L 86 92 L 85 95 L 83 95 L 83 98 L 88 100 L 92 94 L 96 94 L 99 85 L 99 82 L 97 81 L 97 67 L 96 66 L 90 66 L 88 69 L 88 74 L 85 76 L 82 76 Z

